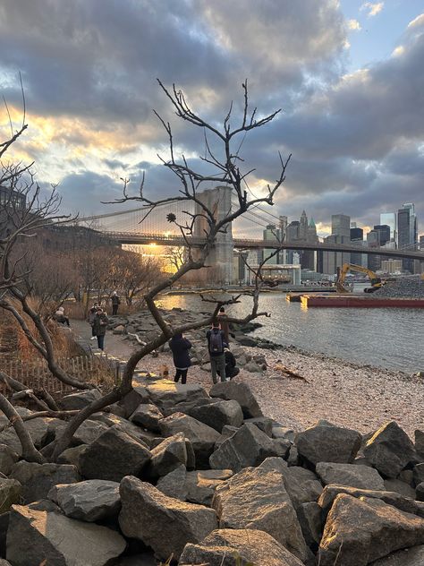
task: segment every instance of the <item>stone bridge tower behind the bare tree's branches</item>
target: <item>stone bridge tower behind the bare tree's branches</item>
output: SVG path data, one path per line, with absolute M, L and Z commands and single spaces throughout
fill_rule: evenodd
M 203 202 L 209 210 L 214 213 L 216 221 L 225 219 L 231 214 L 232 188 L 230 186 L 217 186 L 215 189 L 207 189 L 197 195 L 199 201 Z M 196 214 L 202 214 L 203 210 L 196 203 Z M 205 237 L 208 231 L 206 219 L 198 217 L 194 224 L 193 236 Z M 213 283 L 230 283 L 233 279 L 233 229 L 232 225 L 226 226 L 225 234 L 216 236 L 216 243 L 208 254 L 206 265 L 210 266 L 210 281 Z M 194 250 L 195 254 L 196 251 Z

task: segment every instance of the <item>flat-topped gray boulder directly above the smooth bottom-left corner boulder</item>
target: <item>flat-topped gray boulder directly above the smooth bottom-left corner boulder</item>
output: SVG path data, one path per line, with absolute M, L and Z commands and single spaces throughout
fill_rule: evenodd
M 66 517 L 94 522 L 115 517 L 121 510 L 119 484 L 89 479 L 78 484 L 55 485 L 48 493 Z

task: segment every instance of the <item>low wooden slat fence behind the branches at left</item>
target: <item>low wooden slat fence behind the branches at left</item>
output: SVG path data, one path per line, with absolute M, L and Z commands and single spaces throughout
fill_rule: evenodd
M 104 385 L 106 389 L 111 389 L 121 379 L 122 364 L 105 353 L 59 358 L 57 363 L 66 373 L 81 382 Z M 0 357 L 0 371 L 28 386 L 29 389 L 44 389 L 54 396 L 74 391 L 71 385 L 60 382 L 50 373 L 44 359 L 20 362 L 4 360 Z M 0 392 L 8 394 L 10 391 L 4 383 L 0 383 Z

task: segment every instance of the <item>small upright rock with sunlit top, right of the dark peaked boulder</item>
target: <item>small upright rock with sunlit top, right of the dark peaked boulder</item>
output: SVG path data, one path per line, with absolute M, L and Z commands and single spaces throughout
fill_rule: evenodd
M 174 434 L 151 450 L 148 476 L 166 476 L 176 467 L 187 466 L 187 448 L 183 433 Z

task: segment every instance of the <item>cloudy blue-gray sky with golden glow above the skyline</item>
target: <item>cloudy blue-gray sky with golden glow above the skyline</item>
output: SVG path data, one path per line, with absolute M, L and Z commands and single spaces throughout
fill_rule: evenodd
M 324 233 L 331 214 L 369 227 L 415 202 L 424 233 L 422 0 L 2 0 L 0 53 L 2 94 L 18 124 L 21 72 L 30 124 L 10 157 L 35 159 L 66 210 L 105 211 L 143 170 L 150 195 L 178 189 L 153 108 L 199 165 L 202 134 L 157 78 L 214 124 L 231 100 L 236 123 L 248 78 L 259 114 L 283 109 L 243 142 L 252 193 L 278 176 L 278 150 L 293 154 L 273 214 L 305 209 Z

